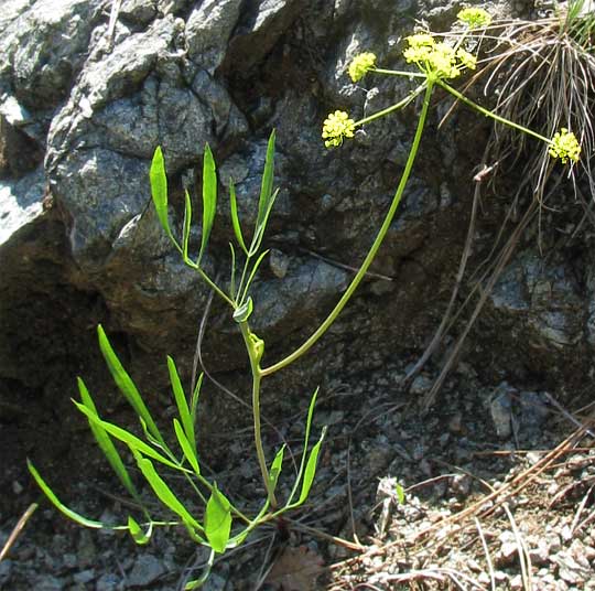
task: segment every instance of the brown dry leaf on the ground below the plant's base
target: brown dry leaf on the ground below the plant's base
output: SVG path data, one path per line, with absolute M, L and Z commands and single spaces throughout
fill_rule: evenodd
M 277 585 L 280 591 L 314 591 L 323 565 L 323 559 L 306 546 L 288 547 L 264 582 Z

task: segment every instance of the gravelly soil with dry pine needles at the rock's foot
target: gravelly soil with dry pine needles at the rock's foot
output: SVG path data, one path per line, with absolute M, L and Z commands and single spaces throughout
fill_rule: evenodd
M 588 420 L 589 393 L 566 394 L 563 409 L 555 393 L 485 385 L 463 363 L 423 416 L 416 402 L 435 376 L 405 389 L 407 369 L 387 364 L 322 385 L 312 439 L 323 425 L 328 431 L 307 504 L 220 557 L 205 589 L 595 589 L 595 454 L 592 433 L 576 425 Z M 278 423 L 294 453 L 304 417 L 305 408 Z M 1 589 L 164 591 L 199 573 L 206 557 L 182 530 L 159 529 L 137 547 L 128 536 L 63 518 L 24 469 L 19 450 L 52 441 L 51 430 L 31 429 L 23 420 L 0 429 L 8 465 L 0 548 L 26 507 L 40 503 L 0 562 Z M 99 453 L 75 453 L 93 449 L 86 431 L 76 439 L 51 452 L 45 443 L 55 463 L 40 456 L 40 471 L 76 511 L 122 522 L 130 504 Z M 279 434 L 269 430 L 266 442 L 272 456 Z M 255 506 L 262 490 L 250 430 L 212 444 L 226 450 L 213 463 L 219 486 Z M 280 497 L 292 485 L 289 460 L 283 474 Z

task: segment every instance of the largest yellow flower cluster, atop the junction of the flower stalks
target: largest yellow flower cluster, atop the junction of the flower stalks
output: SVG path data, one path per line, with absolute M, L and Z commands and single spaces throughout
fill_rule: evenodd
M 403 51 L 408 63 L 414 63 L 428 75 L 439 78 L 456 78 L 462 71 L 475 69 L 477 58 L 463 47 L 455 50 L 428 33 L 407 37 L 409 47 Z

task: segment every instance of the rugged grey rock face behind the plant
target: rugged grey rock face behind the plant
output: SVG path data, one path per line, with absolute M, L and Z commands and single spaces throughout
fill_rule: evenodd
M 347 65 L 372 50 L 379 63 L 402 66 L 399 40 L 414 19 L 444 30 L 459 8 L 407 0 L 125 0 L 112 14 L 116 6 L 10 0 L 0 15 L 4 413 L 19 406 L 23 391 L 62 408 L 74 375 L 105 377 L 91 352 L 99 322 L 141 385 L 165 384 L 166 353 L 187 376 L 208 290 L 184 267 L 151 206 L 148 171 L 158 144 L 177 234 L 183 187 L 196 193 L 204 146 L 212 147 L 220 198 L 205 265 L 227 278 L 229 180 L 251 228 L 267 138 L 277 129 L 274 184 L 281 191 L 267 238 L 273 256 L 255 283 L 255 327 L 267 341 L 268 362 L 300 344 L 366 255 L 415 122 L 410 108 L 367 126 L 340 150 L 325 150 L 320 132 L 328 111 L 342 108 L 357 118 L 410 88 L 391 77 L 354 85 Z M 365 282 L 311 364 L 278 382 L 288 391 L 329 372 L 365 370 L 419 353 L 440 323 L 487 133 L 486 123 L 464 109 L 439 129 L 448 107 L 441 104 L 431 116 L 374 268 L 378 275 Z M 502 219 L 504 207 L 490 207 L 474 247 L 477 262 Z M 198 229 L 193 244 L 199 244 Z M 563 375 L 564 359 L 581 367 L 581 355 L 595 343 L 593 261 L 585 256 L 577 265 L 536 245 L 519 249 L 489 298 L 488 329 L 469 336 L 470 363 L 488 361 L 499 379 L 508 379 L 507 372 L 524 376 L 530 364 L 544 378 Z M 517 356 L 507 353 L 511 342 Z M 217 301 L 204 350 L 215 373 L 246 368 L 234 323 Z M 72 387 L 64 385 L 68 375 Z

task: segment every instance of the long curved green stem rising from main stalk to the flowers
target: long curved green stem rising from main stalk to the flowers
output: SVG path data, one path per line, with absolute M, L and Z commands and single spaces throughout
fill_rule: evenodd
M 333 324 L 333 322 L 339 315 L 342 310 L 345 308 L 345 304 L 350 300 L 355 290 L 357 289 L 357 287 L 359 286 L 364 277 L 366 276 L 368 268 L 370 267 L 371 262 L 376 258 L 376 254 L 378 252 L 378 249 L 380 248 L 380 245 L 382 244 L 385 236 L 387 235 L 387 232 L 389 230 L 390 225 L 392 224 L 392 219 L 394 217 L 394 214 L 397 213 L 397 208 L 399 207 L 401 197 L 403 196 L 403 192 L 409 181 L 409 176 L 411 175 L 411 170 L 413 169 L 413 163 L 415 162 L 415 157 L 420 148 L 420 141 L 422 138 L 423 128 L 425 127 L 425 120 L 428 118 L 428 110 L 430 108 L 430 98 L 432 96 L 433 86 L 434 86 L 433 80 L 429 79 L 425 86 L 423 106 L 420 114 L 420 119 L 418 121 L 415 136 L 413 138 L 413 144 L 411 146 L 411 150 L 407 159 L 403 174 L 399 182 L 399 186 L 397 187 L 397 192 L 394 193 L 394 197 L 392 198 L 392 203 L 390 204 L 387 216 L 385 217 L 385 222 L 382 223 L 382 226 L 380 227 L 378 235 L 376 236 L 376 239 L 368 255 L 366 256 L 364 262 L 361 264 L 361 267 L 359 268 L 356 276 L 349 283 L 349 287 L 347 288 L 345 293 L 342 296 L 340 300 L 335 305 L 334 310 L 331 312 L 327 319 L 318 326 L 318 329 L 316 329 L 316 331 L 312 334 L 312 336 L 307 341 L 305 341 L 305 343 L 303 343 L 299 348 L 296 348 L 291 355 L 288 355 L 285 358 L 281 359 L 274 365 L 266 367 L 264 369 L 260 369 L 261 376 L 268 376 L 268 375 L 274 374 L 279 369 L 293 363 L 295 359 L 301 357 L 310 347 L 312 347 L 312 345 L 314 345 L 314 343 L 316 343 L 316 341 L 318 341 L 318 339 L 327 331 L 331 324 Z

